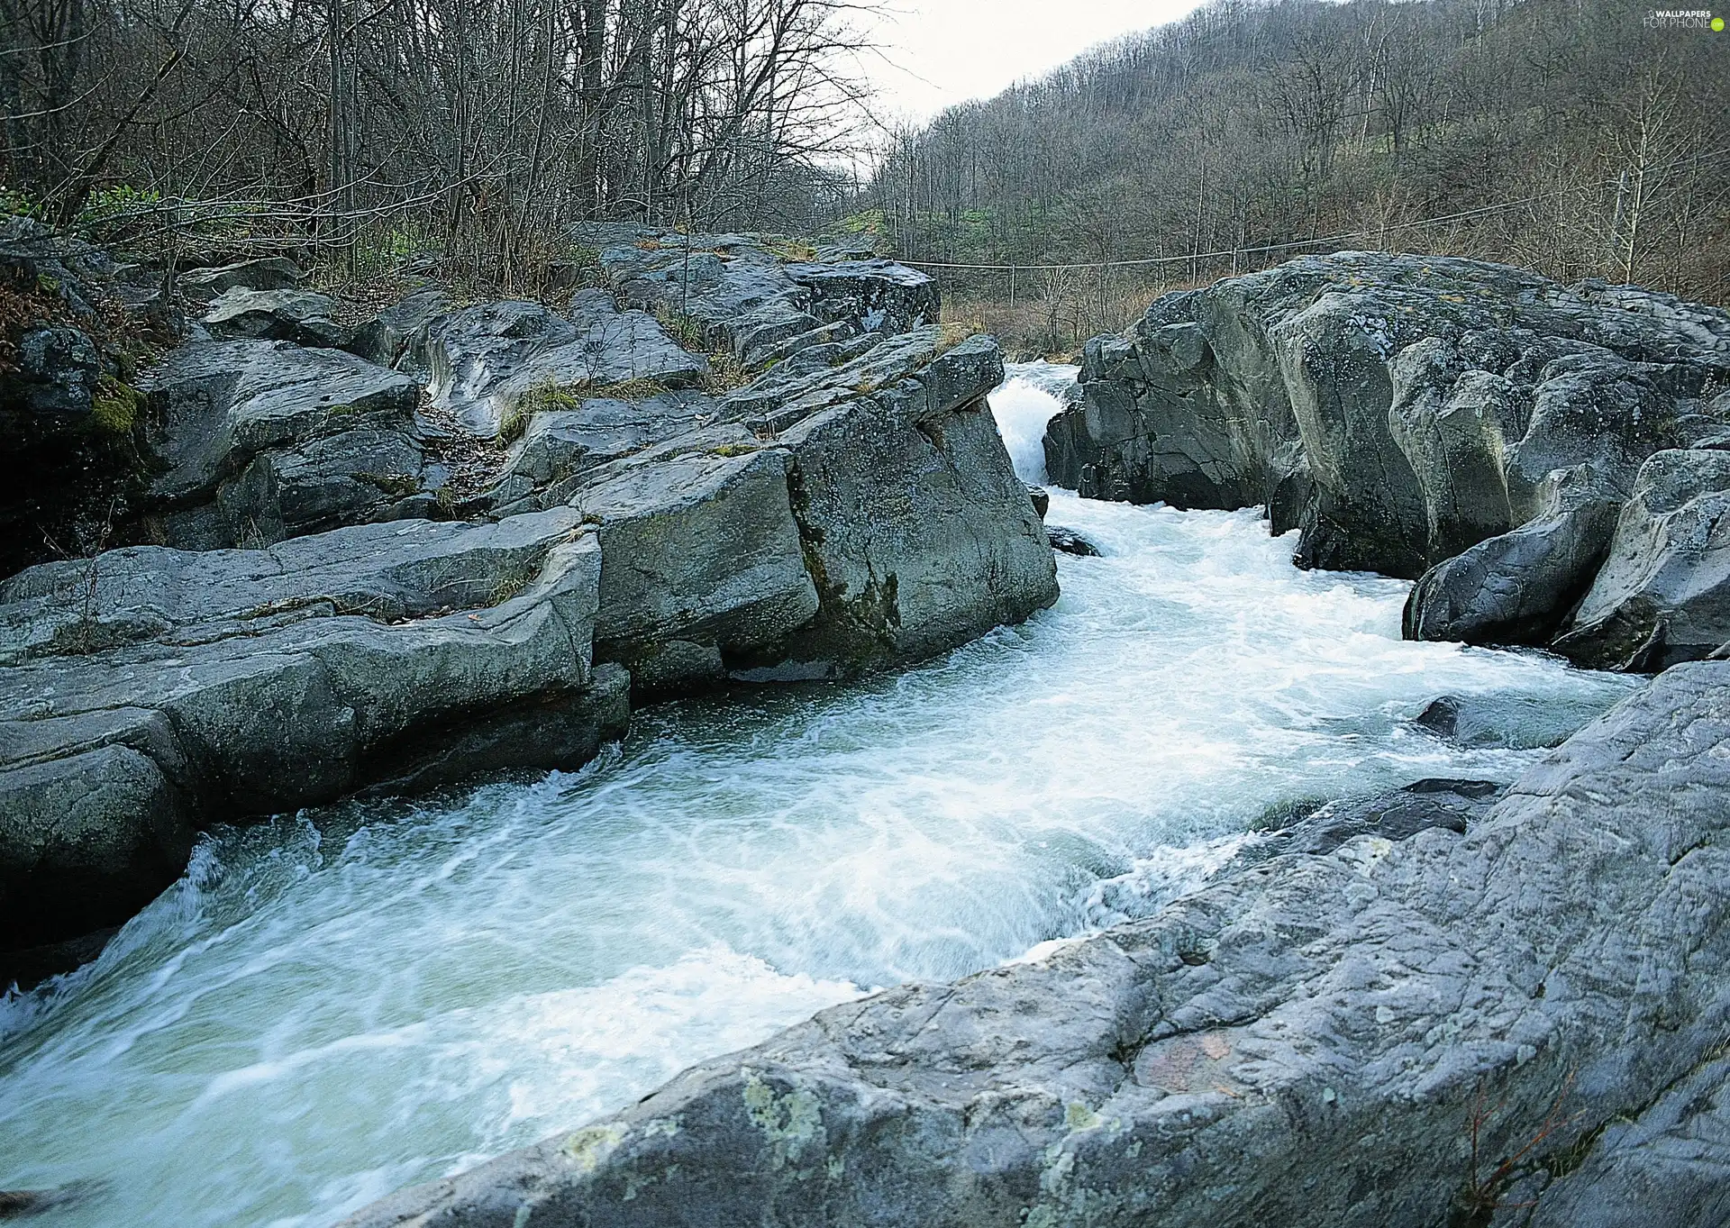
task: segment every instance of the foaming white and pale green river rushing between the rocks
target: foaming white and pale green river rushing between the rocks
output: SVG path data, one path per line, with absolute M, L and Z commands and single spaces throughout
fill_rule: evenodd
M 1055 401 L 993 408 L 1041 476 Z M 1104 557 L 941 661 L 213 835 L 95 965 L 0 1003 L 0 1188 L 85 1183 L 43 1228 L 324 1228 L 874 986 L 1147 913 L 1273 806 L 1512 778 L 1633 685 L 1403 643 L 1405 583 L 1296 571 L 1253 512 L 1054 491 L 1050 521 Z M 1515 749 L 1413 728 L 1441 694 Z

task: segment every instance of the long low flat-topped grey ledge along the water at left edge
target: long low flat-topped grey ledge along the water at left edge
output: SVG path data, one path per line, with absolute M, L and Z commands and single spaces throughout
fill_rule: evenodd
M 590 671 L 599 586 L 571 508 L 19 572 L 0 586 L 5 944 L 125 920 L 209 822 L 586 761 L 628 688 Z

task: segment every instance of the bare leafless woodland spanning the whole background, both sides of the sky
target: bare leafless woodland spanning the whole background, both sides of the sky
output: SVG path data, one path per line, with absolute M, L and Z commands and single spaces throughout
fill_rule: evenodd
M 1055 349 L 1351 246 L 1730 301 L 1730 33 L 1631 0 L 1214 0 L 891 130 L 863 7 L 0 0 L 5 204 L 349 272 L 434 254 L 516 292 L 576 220 L 849 228 L 1014 266 L 939 277 Z

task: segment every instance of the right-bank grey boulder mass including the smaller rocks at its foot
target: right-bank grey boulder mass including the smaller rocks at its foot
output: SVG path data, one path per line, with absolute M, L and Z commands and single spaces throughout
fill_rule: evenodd
M 1730 445 L 1718 308 L 1467 259 L 1306 256 L 1156 301 L 1088 342 L 1081 394 L 1045 436 L 1054 481 L 1261 503 L 1275 533 L 1299 529 L 1301 566 L 1422 578 L 1413 638 L 1621 669 L 1730 640 L 1688 529 L 1723 489 L 1699 453 Z

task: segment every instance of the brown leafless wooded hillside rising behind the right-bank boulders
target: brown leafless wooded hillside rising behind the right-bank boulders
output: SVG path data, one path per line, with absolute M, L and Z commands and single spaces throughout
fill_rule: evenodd
M 1730 35 L 1630 0 L 1214 0 L 900 133 L 855 225 L 915 259 L 1164 258 L 941 272 L 1054 348 L 1154 287 L 1336 247 L 1725 303 L 1727 81 Z

